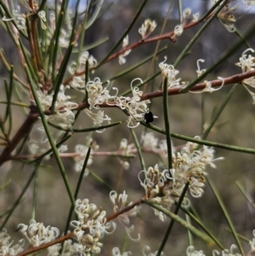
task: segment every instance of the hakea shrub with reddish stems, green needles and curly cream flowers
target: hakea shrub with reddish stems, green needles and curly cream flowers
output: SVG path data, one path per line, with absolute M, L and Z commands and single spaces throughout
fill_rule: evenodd
M 201 197 L 204 193 L 203 187 L 206 182 L 207 167 L 216 168 L 214 162 L 223 159 L 223 157 L 214 158 L 214 149 L 212 147 L 207 145 L 199 146 L 198 144 L 201 144 L 199 137 L 195 137 L 197 143 L 187 142 L 180 151 L 176 151 L 173 144 L 169 142 L 171 139 L 159 140 L 150 132 L 144 132 L 141 135 L 140 145 L 137 145 L 137 141 L 136 144 L 133 144 L 129 143 L 127 139 L 122 139 L 116 152 L 99 152 L 96 151 L 98 149 L 97 145 L 93 146 L 92 143 L 83 145 L 82 142 L 74 146 L 73 152 L 67 152 L 67 145 L 61 143 L 68 137 L 68 134 L 66 135 L 67 132 L 76 133 L 77 128 L 75 125 L 80 111 L 84 111 L 89 120 L 93 122 L 93 127 L 88 128 L 87 132 L 93 132 L 94 130 L 104 132 L 105 127 L 112 124 L 113 116 L 111 117 L 111 114 L 106 115 L 105 111 L 102 110 L 104 107 L 118 108 L 123 111 L 127 115 L 125 118 L 127 128 L 131 128 L 133 132 L 133 128 L 139 127 L 140 124 L 147 128 L 152 128 L 150 122 L 153 122 L 156 116 L 150 111 L 150 103 L 152 99 L 163 94 L 164 96 L 167 94 L 179 94 L 184 92 L 185 89 L 186 93 L 213 93 L 224 88 L 227 84 L 242 82 L 249 94 L 252 95 L 252 100 L 255 101 L 255 94 L 250 89 L 255 88 L 254 57 L 252 56 L 254 49 L 252 48 L 247 48 L 241 54 L 240 61 L 236 63 L 237 66 L 241 67 L 242 74 L 239 76 L 218 77 L 217 80 L 213 81 L 204 80 L 204 82 L 195 85 L 193 88 L 189 87 L 190 82 L 181 82 L 182 72 L 178 71 L 176 64 L 167 64 L 167 57 L 158 65 L 159 73 L 161 73 L 161 84 L 164 81 L 167 82 L 167 92 L 163 91 L 161 86 L 158 90 L 145 94 L 144 89 L 141 88 L 144 85 L 144 81 L 137 77 L 130 82 L 129 95 L 119 94 L 120 85 L 116 82 L 116 86 L 112 87 L 112 81 L 115 78 L 109 78 L 105 82 L 100 78 L 102 76 L 99 71 L 101 65 L 115 59 L 119 60 L 120 65 L 125 65 L 127 63 L 126 57 L 133 53 L 133 48 L 139 48 L 145 43 L 160 42 L 164 39 L 170 39 L 171 42 L 176 43 L 178 42 L 178 37 L 181 37 L 185 30 L 201 22 L 209 22 L 213 15 L 218 17 L 218 20 L 227 31 L 235 31 L 236 19 L 232 12 L 238 9 L 238 5 L 229 7 L 228 3 L 231 1 L 224 0 L 219 2 L 218 0 L 213 0 L 212 4 L 216 8 L 212 8 L 201 19 L 199 14 L 193 14 L 193 18 L 190 18 L 190 9 L 185 9 L 183 12 L 180 11 L 180 22 L 173 27 L 173 31 L 167 31 L 167 33 L 155 37 L 151 35 L 156 31 L 156 21 L 145 19 L 139 27 L 138 33 L 141 37 L 137 42 L 129 42 L 133 41 L 133 38 L 128 36 L 131 27 L 128 28 L 119 42 L 120 49 L 115 54 L 111 52 L 101 62 L 83 48 L 83 37 L 86 29 L 91 26 L 90 21 L 96 20 L 94 14 L 99 14 L 97 8 L 101 8 L 102 1 L 95 4 L 96 11 L 94 11 L 94 14 L 88 14 L 88 11 L 93 9 L 89 5 L 89 8 L 88 6 L 86 7 L 88 9 L 85 10 L 84 15 L 79 13 L 79 2 L 77 2 L 76 14 L 74 15 L 68 9 L 68 1 L 63 0 L 59 1 L 59 3 L 55 1 L 54 8 L 51 6 L 46 8 L 44 6 L 46 2 L 41 1 L 39 4 L 36 1 L 23 0 L 21 1 L 23 4 L 22 9 L 20 9 L 20 6 L 16 7 L 15 4 L 9 4 L 5 0 L 0 2 L 2 25 L 5 26 L 6 31 L 9 32 L 10 38 L 17 47 L 20 62 L 26 74 L 26 82 L 24 82 L 24 78 L 18 77 L 14 72 L 13 65 L 8 64 L 3 50 L 0 51 L 0 59 L 11 77 L 10 88 L 7 91 L 8 108 L 12 105 L 11 95 L 9 94 L 12 91 L 11 87 L 14 81 L 16 82 L 14 84 L 15 88 L 22 87 L 22 94 L 27 96 L 30 104 L 26 105 L 30 108 L 26 121 L 18 132 L 14 134 L 13 139 L 10 137 L 11 131 L 7 132 L 5 128 L 6 121 L 11 118 L 8 108 L 6 116 L 0 118 L 1 131 L 3 133 L 1 145 L 5 147 L 0 155 L 0 164 L 8 160 L 25 160 L 25 162 L 36 163 L 36 166 L 39 166 L 42 158 L 43 160 L 49 160 L 50 156 L 54 155 L 65 180 L 67 191 L 69 191 L 72 202 L 71 213 L 73 209 L 76 217 L 68 223 L 72 230 L 65 230 L 65 234 L 61 235 L 59 235 L 58 228 L 49 225 L 45 226 L 42 222 L 31 219 L 29 225 L 18 225 L 17 230 L 25 238 L 16 244 L 11 241 L 11 236 L 8 235 L 7 230 L 2 229 L 0 232 L 1 256 L 37 253 L 37 251 L 46 247 L 48 256 L 71 256 L 77 254 L 91 256 L 99 254 L 104 245 L 103 239 L 105 235 L 111 235 L 116 230 L 115 219 L 119 220 L 131 240 L 138 241 L 140 234 L 138 234 L 138 238 L 131 236 L 131 232 L 135 230 L 135 225 L 131 224 L 131 217 L 142 211 L 142 202 L 150 202 L 167 211 L 171 211 L 173 204 L 177 204 L 182 193 L 185 192 L 184 200 L 181 203 L 188 208 L 190 202 L 186 191 L 184 191 L 186 185 L 188 185 L 187 189 L 190 191 L 191 196 L 195 198 Z M 251 1 L 246 2 L 246 5 L 251 4 Z M 142 8 L 141 6 L 139 11 Z M 26 9 L 26 11 L 23 9 Z M 77 26 L 79 16 L 84 17 L 82 26 Z M 136 21 L 135 19 L 133 21 Z M 77 51 L 77 56 L 71 58 L 71 55 L 75 53 L 74 48 Z M 187 51 L 184 54 L 187 54 Z M 248 51 L 252 54 L 247 55 Z M 207 70 L 201 70 L 199 66 L 199 62 L 204 61 L 202 59 L 197 60 L 197 79 L 207 74 Z M 92 77 L 94 74 L 95 77 Z M 135 86 L 133 85 L 134 82 L 139 82 L 139 84 Z M 74 91 L 82 95 L 83 100 L 80 103 L 77 103 L 73 95 Z M 19 93 L 17 95 L 19 96 Z M 25 103 L 19 104 L 25 106 Z M 166 108 L 164 111 L 166 111 Z M 39 135 L 35 136 L 37 137 L 35 139 L 27 139 L 30 137 L 30 131 L 35 122 L 37 122 L 35 127 L 39 131 Z M 104 125 L 104 122 L 107 122 L 107 125 Z M 117 122 L 116 124 L 121 124 L 122 122 Z M 48 125 L 58 129 L 59 134 L 54 134 Z M 9 122 L 9 127 L 11 127 L 11 122 Z M 21 141 L 22 144 L 27 145 L 31 155 L 12 155 L 12 152 L 16 151 L 18 145 L 21 144 Z M 91 142 L 91 138 L 87 142 Z M 22 147 L 23 145 L 18 151 L 21 151 Z M 170 154 L 170 150 L 172 152 L 172 162 L 168 161 L 170 159 L 168 151 Z M 110 200 L 113 204 L 113 213 L 107 215 L 103 208 L 89 202 L 88 198 L 82 200 L 77 199 L 77 195 L 72 195 L 61 157 L 72 158 L 75 162 L 75 170 L 82 173 L 83 178 L 92 173 L 88 167 L 92 165 L 96 155 L 115 155 L 119 157 L 122 167 L 127 170 L 131 166 L 129 158 L 134 157 L 137 153 L 141 154 L 141 152 L 150 152 L 160 156 L 161 162 L 156 162 L 153 167 L 145 168 L 144 162 L 141 160 L 142 170 L 139 172 L 137 183 L 144 189 L 144 194 L 136 202 L 127 201 L 126 191 L 122 193 L 118 193 L 117 190 L 111 191 Z M 141 156 L 140 159 L 142 159 Z M 167 161 L 168 168 L 166 168 Z M 97 179 L 99 178 L 97 177 Z M 37 182 L 35 183 L 37 184 Z M 153 209 L 161 221 L 166 220 L 167 215 L 165 213 L 156 208 Z M 251 252 L 254 252 L 254 239 L 250 242 L 250 245 Z M 241 255 L 234 251 L 235 246 L 231 246 L 230 250 L 224 249 L 222 255 Z M 113 247 L 111 253 L 113 256 L 127 256 L 130 254 L 129 251 L 121 253 L 119 247 Z M 149 256 L 163 254 L 161 251 L 150 253 L 150 247 L 148 246 L 144 246 L 142 253 Z M 188 247 L 186 254 L 187 256 L 204 256 L 202 251 L 195 251 L 195 247 Z M 216 254 L 220 253 L 213 251 L 213 255 Z

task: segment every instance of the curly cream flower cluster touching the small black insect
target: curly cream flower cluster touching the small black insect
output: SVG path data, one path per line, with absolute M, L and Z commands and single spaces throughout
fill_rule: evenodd
M 133 97 L 116 97 L 114 105 L 118 106 L 122 110 L 126 110 L 129 117 L 127 120 L 127 127 L 136 128 L 139 126 L 139 123 L 144 121 L 144 115 L 148 112 L 147 104 L 150 103 L 150 100 L 141 100 L 141 96 L 143 94 L 142 91 L 139 91 L 138 87 L 132 86 L 135 80 L 139 80 L 139 82 L 143 82 L 140 78 L 136 78 L 131 82 L 131 89 L 133 93 Z

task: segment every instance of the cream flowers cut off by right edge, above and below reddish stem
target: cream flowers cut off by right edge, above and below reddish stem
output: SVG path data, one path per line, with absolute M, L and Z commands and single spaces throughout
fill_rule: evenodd
M 241 71 L 242 72 L 248 72 L 248 71 L 254 71 L 254 66 L 255 66 L 255 58 L 249 54 L 247 56 L 247 52 L 250 51 L 252 52 L 252 54 L 254 54 L 254 49 L 252 48 L 247 48 L 242 54 L 241 54 L 241 58 L 239 59 L 240 62 L 235 63 L 235 65 L 240 66 L 241 67 Z M 246 78 L 242 81 L 243 86 L 246 88 L 246 90 L 248 91 L 248 93 L 252 96 L 252 100 L 253 100 L 253 104 L 255 104 L 255 94 L 252 92 L 252 90 L 250 88 L 248 88 L 247 86 L 250 86 L 252 88 L 255 88 L 255 77 L 249 77 Z

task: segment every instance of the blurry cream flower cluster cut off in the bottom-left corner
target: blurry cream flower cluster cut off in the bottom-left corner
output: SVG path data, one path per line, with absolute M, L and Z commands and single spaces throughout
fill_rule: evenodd
M 25 240 L 20 239 L 19 243 L 13 245 L 11 236 L 8 235 L 7 230 L 3 229 L 0 232 L 0 255 L 1 256 L 15 256 L 24 251 Z

